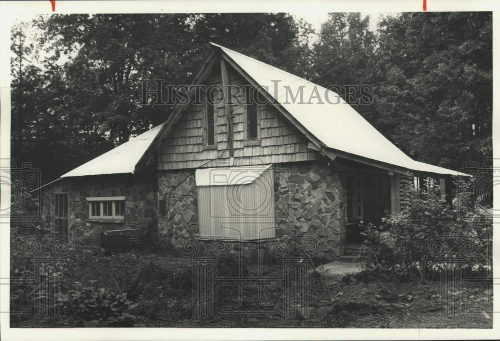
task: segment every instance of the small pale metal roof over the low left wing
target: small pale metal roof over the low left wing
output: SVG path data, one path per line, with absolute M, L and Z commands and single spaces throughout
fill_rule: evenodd
M 151 144 L 164 123 L 120 144 L 116 148 L 97 156 L 79 167 L 61 175 L 70 176 L 119 174 L 134 172 L 135 165 Z

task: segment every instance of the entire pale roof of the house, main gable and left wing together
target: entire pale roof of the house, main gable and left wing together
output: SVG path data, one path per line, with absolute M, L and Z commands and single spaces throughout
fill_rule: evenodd
M 212 53 L 192 84 L 200 84 L 217 58 L 223 57 L 247 80 L 262 87 L 264 90 L 261 91 L 265 91 L 263 94 L 277 103 L 273 105 L 331 159 L 340 156 L 367 164 L 371 164 L 371 160 L 375 167 L 393 165 L 400 172 L 412 170 L 470 176 L 411 159 L 331 90 L 215 43 L 210 42 L 209 46 Z M 287 88 L 293 96 L 297 90 L 302 89 L 303 101 L 291 101 L 290 93 L 287 100 Z M 163 124 L 84 163 L 61 178 L 135 173 L 146 164 L 150 153 L 159 147 L 186 105 L 188 104 L 175 107 Z

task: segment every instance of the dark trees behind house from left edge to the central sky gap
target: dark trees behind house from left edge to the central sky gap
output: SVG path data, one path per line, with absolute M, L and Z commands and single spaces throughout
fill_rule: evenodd
M 46 183 L 166 120 L 173 106 L 141 104 L 140 80 L 189 84 L 209 41 L 305 75 L 310 33 L 286 13 L 56 14 L 20 23 L 11 44 L 12 156 L 40 168 Z

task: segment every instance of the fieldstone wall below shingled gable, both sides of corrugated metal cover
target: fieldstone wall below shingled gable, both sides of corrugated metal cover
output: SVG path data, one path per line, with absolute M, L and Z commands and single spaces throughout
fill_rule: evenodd
M 317 238 L 320 262 L 343 254 L 345 225 L 343 182 L 327 163 L 305 161 L 273 167 L 275 233 L 288 241 Z M 198 234 L 194 170 L 160 171 L 158 176 L 160 240 L 175 245 Z

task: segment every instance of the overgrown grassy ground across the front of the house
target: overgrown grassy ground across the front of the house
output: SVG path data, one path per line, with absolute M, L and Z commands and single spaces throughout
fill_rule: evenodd
M 82 283 L 127 293 L 137 327 L 326 327 L 326 328 L 492 328 L 492 285 L 463 286 L 447 296 L 462 305 L 442 305 L 439 281 L 399 283 L 309 272 L 307 309 L 283 320 L 280 284 L 219 286 L 215 321 L 192 320 L 191 260 L 164 252 L 102 254 L 78 248 L 64 260 L 61 291 Z M 220 271 L 223 271 L 219 267 Z M 282 277 L 279 262 L 250 263 L 248 277 Z M 458 308 L 461 310 L 458 311 Z M 303 313 L 306 311 L 307 313 Z

